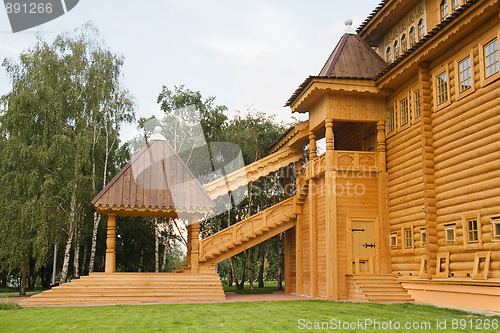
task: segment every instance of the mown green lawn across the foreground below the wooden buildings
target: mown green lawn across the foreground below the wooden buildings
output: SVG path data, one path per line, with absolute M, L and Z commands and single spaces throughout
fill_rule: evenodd
M 393 327 L 398 322 L 401 328 L 358 328 L 358 319 L 371 319 L 380 325 L 392 321 Z M 487 321 L 490 327 L 493 322 L 500 324 L 500 316 L 484 317 L 424 305 L 287 301 L 3 310 L 0 332 L 303 332 L 308 330 L 299 329 L 300 323 L 305 328 L 314 327 L 314 322 L 332 320 L 355 322 L 353 329 L 329 330 L 342 332 L 472 332 L 479 323 L 483 328 L 480 332 L 498 332 L 484 328 Z M 446 329 L 436 328 L 438 320 L 446 320 Z M 430 326 L 405 329 L 407 322 L 415 327 L 422 323 Z M 457 329 L 453 329 L 453 323 Z M 465 327 L 460 329 L 460 324 Z

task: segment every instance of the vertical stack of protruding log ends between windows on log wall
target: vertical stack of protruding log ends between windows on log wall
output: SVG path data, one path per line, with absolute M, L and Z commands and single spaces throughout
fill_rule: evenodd
M 430 278 L 436 272 L 437 228 L 436 228 L 436 186 L 434 184 L 434 139 L 432 136 L 432 89 L 429 64 L 421 63 L 418 68 L 420 83 L 421 133 L 422 133 L 422 166 L 424 183 L 425 232 L 427 233 L 426 255 L 428 273 L 422 278 Z

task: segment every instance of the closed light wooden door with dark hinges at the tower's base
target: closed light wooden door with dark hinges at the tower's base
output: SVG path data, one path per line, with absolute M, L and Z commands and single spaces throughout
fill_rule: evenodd
M 373 221 L 352 221 L 352 271 L 354 274 L 374 273 L 374 225 Z

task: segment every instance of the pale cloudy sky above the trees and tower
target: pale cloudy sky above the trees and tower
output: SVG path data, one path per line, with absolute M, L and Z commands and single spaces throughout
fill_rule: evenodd
M 184 84 L 216 96 L 230 116 L 248 108 L 291 116 L 283 105 L 308 75 L 317 75 L 352 18 L 357 27 L 380 0 L 80 0 L 67 14 L 13 34 L 0 9 L 0 59 L 52 41 L 92 21 L 112 52 L 125 57 L 123 82 L 137 116 L 159 113 L 162 85 Z M 0 94 L 10 82 L 0 69 Z M 122 131 L 134 135 L 135 125 Z

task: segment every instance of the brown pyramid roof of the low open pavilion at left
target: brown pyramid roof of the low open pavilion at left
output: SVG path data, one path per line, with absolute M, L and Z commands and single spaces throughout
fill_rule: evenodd
M 185 217 L 214 207 L 189 167 L 158 132 L 91 204 L 101 215 L 144 217 Z

